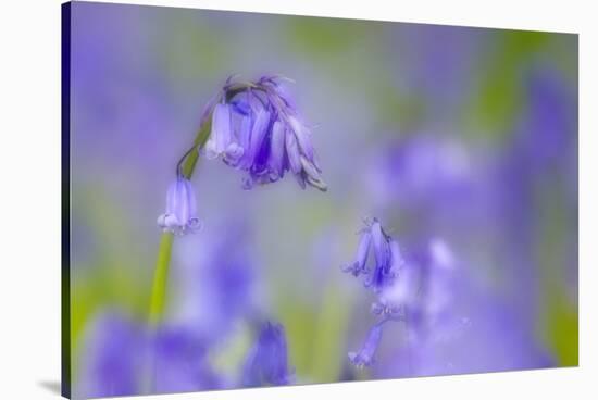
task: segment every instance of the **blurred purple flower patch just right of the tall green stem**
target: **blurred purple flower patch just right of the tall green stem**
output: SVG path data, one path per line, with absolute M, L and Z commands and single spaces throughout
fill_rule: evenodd
M 213 225 L 212 235 L 182 243 L 178 323 L 192 327 L 212 342 L 222 342 L 234 324 L 256 308 L 256 254 L 245 222 Z

